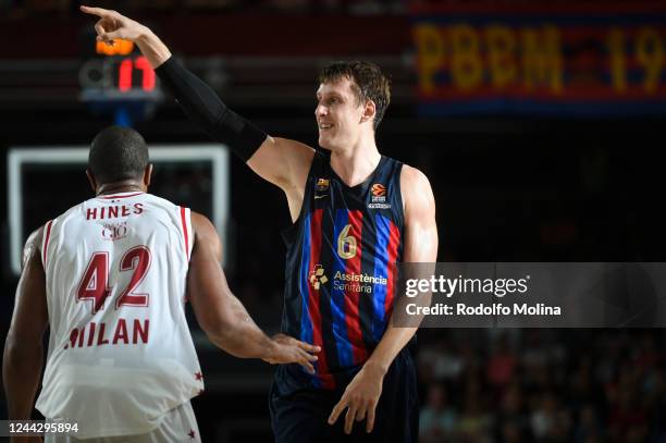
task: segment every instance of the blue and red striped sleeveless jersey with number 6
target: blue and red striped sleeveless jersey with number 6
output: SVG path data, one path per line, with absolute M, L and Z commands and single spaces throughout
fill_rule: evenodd
M 322 352 L 313 376 L 296 365 L 279 368 L 287 391 L 346 385 L 382 339 L 403 255 L 402 167 L 382 156 L 368 180 L 349 187 L 330 153 L 314 155 L 300 214 L 284 233 L 282 331 Z

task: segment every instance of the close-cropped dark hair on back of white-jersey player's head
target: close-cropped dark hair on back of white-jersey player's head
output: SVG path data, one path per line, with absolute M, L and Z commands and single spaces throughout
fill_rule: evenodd
M 138 179 L 148 161 L 144 137 L 122 126 L 109 126 L 97 134 L 88 153 L 88 169 L 99 184 Z

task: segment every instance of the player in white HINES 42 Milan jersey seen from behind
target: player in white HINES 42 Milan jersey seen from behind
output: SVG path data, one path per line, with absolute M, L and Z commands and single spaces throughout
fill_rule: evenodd
M 3 381 L 10 419 L 77 423 L 46 441 L 197 442 L 190 398 L 203 390 L 185 319 L 189 299 L 217 346 L 244 358 L 298 362 L 319 352 L 269 339 L 231 293 L 220 238 L 205 217 L 147 194 L 143 137 L 109 127 L 94 139 L 87 175 L 96 197 L 33 233 L 24 250 Z M 22 440 L 23 441 L 23 440 Z M 86 440 L 88 441 L 88 440 Z

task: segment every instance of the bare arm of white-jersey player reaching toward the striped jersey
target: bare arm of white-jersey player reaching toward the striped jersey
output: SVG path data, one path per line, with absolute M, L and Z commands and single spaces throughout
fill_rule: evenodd
M 192 213 L 195 232 L 187 292 L 199 325 L 210 341 L 242 358 L 261 358 L 271 364 L 297 362 L 313 371 L 311 361 L 318 346 L 285 335 L 269 339 L 255 324 L 247 310 L 231 292 L 220 266 L 222 246 L 210 221 Z

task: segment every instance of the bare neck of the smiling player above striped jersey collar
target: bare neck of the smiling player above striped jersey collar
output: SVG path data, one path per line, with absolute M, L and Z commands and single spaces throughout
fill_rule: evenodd
M 336 149 L 331 152 L 331 168 L 347 186 L 356 186 L 374 172 L 382 156 L 374 139 L 359 143 L 350 149 Z

